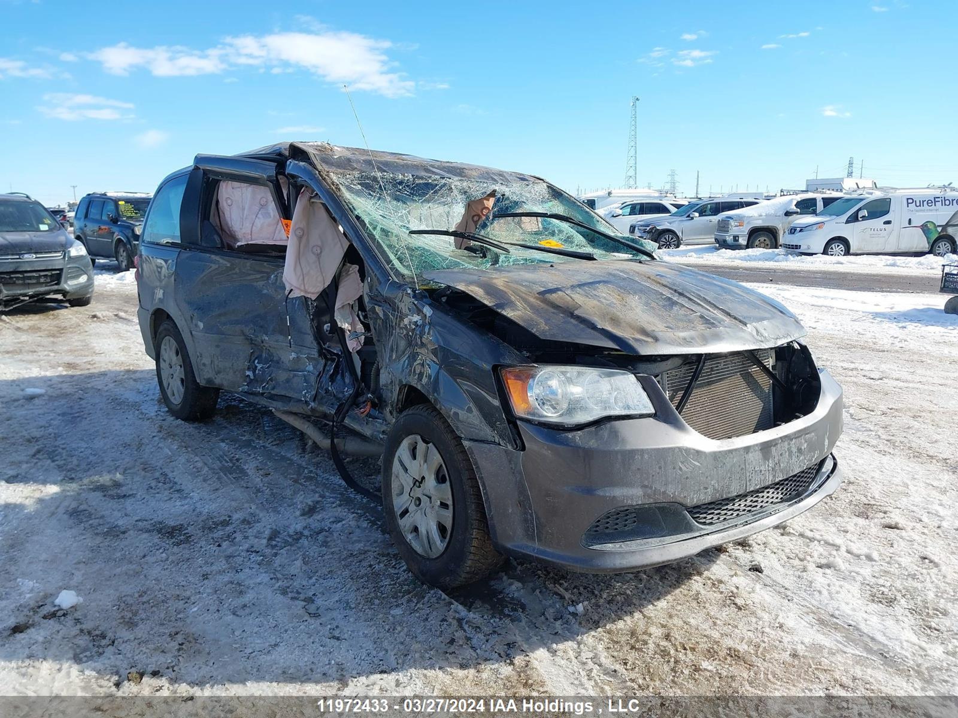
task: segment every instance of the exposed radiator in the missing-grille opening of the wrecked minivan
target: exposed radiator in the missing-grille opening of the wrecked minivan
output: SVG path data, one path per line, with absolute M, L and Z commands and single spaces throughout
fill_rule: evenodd
M 771 349 L 758 349 L 755 354 L 766 367 L 772 366 Z M 673 406 L 678 405 L 695 370 L 696 362 L 689 362 L 666 372 L 666 393 Z M 771 379 L 742 354 L 707 357 L 682 418 L 702 436 L 715 439 L 771 429 Z

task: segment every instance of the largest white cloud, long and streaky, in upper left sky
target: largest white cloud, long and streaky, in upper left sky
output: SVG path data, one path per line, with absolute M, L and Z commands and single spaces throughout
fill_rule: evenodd
M 316 27 L 312 33 L 273 33 L 227 37 L 216 47 L 194 50 L 182 46 L 132 47 L 125 42 L 86 56 L 113 75 L 146 69 L 157 77 L 213 75 L 237 67 L 270 72 L 308 72 L 351 90 L 367 90 L 395 98 L 412 95 L 416 83 L 395 72 L 386 51 L 394 45 L 362 34 Z M 423 89 L 445 89 L 445 83 L 424 83 Z

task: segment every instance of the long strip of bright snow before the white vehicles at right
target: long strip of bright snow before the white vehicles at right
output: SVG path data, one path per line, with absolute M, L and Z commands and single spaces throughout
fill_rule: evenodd
M 827 255 L 798 255 L 784 249 L 719 249 L 714 244 L 660 249 L 658 254 L 666 261 L 680 264 L 717 262 L 723 264 L 747 263 L 750 265 L 782 265 L 789 268 L 831 269 L 842 272 L 874 272 L 887 269 L 904 270 L 909 273 L 942 271 L 943 264 L 958 263 L 958 256 L 935 257 L 922 255 L 856 255 L 855 257 L 828 257 Z

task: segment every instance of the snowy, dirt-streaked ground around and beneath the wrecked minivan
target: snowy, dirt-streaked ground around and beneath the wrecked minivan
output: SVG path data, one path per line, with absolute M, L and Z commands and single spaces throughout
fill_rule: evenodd
M 107 264 L 89 307 L 0 315 L 0 694 L 958 690 L 942 296 L 758 287 L 845 389 L 845 482 L 785 527 L 633 574 L 512 562 L 445 595 L 270 413 L 166 413 L 131 278 Z

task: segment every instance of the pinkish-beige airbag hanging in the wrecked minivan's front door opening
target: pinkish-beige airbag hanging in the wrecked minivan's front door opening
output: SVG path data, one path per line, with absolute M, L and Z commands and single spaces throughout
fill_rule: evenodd
M 283 269 L 289 296 L 316 299 L 336 276 L 348 246 L 348 240 L 315 193 L 300 191 Z

